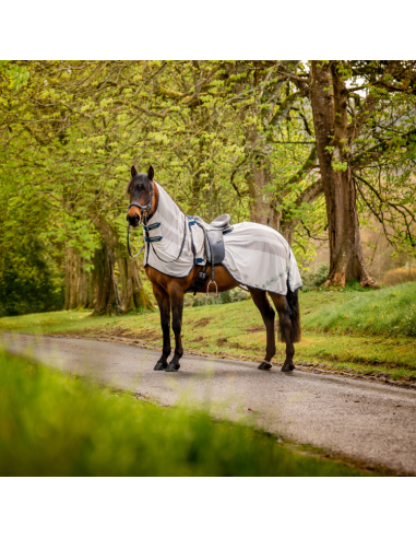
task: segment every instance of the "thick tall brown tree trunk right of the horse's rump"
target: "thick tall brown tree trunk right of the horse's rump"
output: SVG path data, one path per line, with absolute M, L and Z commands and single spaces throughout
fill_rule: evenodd
M 356 190 L 348 163 L 347 90 L 329 61 L 312 61 L 311 103 L 317 150 L 326 201 L 330 274 L 325 285 L 357 279 L 377 288 L 362 256 Z

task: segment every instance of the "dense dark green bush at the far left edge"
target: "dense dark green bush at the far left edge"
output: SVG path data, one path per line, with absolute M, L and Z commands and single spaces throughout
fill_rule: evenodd
M 62 247 L 31 180 L 11 163 L 0 166 L 0 316 L 63 306 Z

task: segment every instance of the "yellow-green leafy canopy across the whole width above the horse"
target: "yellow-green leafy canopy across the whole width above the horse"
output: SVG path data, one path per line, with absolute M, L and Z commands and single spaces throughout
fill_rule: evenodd
M 360 126 L 356 138 L 338 140 L 341 152 L 333 137 L 332 167 L 344 172 L 349 163 L 360 222 L 377 219 L 397 250 L 414 252 L 414 60 L 402 60 L 396 78 L 383 78 L 384 60 L 332 61 L 348 87 L 348 121 Z M 54 279 L 62 278 L 67 247 L 91 268 L 105 238 L 98 222 L 126 241 L 132 163 L 142 171 L 153 163 L 180 208 L 205 220 L 224 212 L 233 222 L 252 220 L 262 200 L 255 219 L 286 236 L 293 226 L 295 255 L 307 265 L 328 241 L 322 189 L 313 190 L 321 179 L 313 114 L 301 84 L 310 67 L 300 60 L 1 60 L 7 210 L 0 234 L 16 242 L 33 226 L 40 257 L 57 253 Z M 264 185 L 254 185 L 254 171 L 266 171 Z M 0 246 L 0 254 L 9 248 Z

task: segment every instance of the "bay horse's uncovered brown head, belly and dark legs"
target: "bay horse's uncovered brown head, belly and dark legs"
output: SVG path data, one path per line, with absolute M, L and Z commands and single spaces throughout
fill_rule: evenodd
M 147 174 L 138 174 L 134 166 L 131 168 L 131 179 L 127 187 L 127 196 L 130 199 L 130 207 L 127 215 L 129 226 L 138 227 L 142 223 L 145 226 L 145 223 L 147 223 L 156 213 L 159 204 L 159 189 L 154 180 L 154 169 L 152 166 Z M 194 265 L 188 277 L 177 278 L 167 276 L 145 262 L 145 271 L 148 280 L 152 282 L 153 292 L 159 307 L 163 330 L 163 353 L 155 365 L 155 371 L 178 372 L 180 369 L 180 359 L 183 355 L 181 338 L 183 297 L 187 290 L 192 286 L 201 269 L 201 266 Z M 207 269 L 207 272 L 211 276 L 211 268 Z M 223 266 L 215 268 L 215 281 L 217 283 L 218 293 L 233 290 L 240 285 L 240 282 L 237 282 Z M 209 284 L 206 283 L 200 290 L 200 293 L 206 293 L 207 286 Z M 293 292 L 290 286 L 287 285 L 287 295 L 284 296 L 260 289 L 248 289 L 255 306 L 260 311 L 266 330 L 266 353 L 264 360 L 259 365 L 259 370 L 270 371 L 272 369 L 272 359 L 276 354 L 275 311 L 268 299 L 269 294 L 278 314 L 278 332 L 281 341 L 286 343 L 286 360 L 282 367 L 282 372 L 293 372 L 295 370 L 294 343 L 300 340 L 301 332 L 298 291 Z M 168 362 L 168 358 L 171 353 L 170 314 L 175 334 L 175 354 L 173 360 Z

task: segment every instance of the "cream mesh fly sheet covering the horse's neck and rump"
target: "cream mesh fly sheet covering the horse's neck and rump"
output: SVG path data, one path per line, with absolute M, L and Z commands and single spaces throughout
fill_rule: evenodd
M 158 184 L 157 189 L 158 206 L 147 222 L 145 266 L 169 277 L 188 277 L 194 264 L 206 265 L 203 230 Z M 287 281 L 293 292 L 302 286 L 290 246 L 275 230 L 251 222 L 235 224 L 233 232 L 224 235 L 224 243 L 223 266 L 241 285 L 280 295 L 287 295 Z

